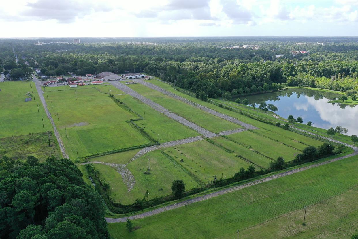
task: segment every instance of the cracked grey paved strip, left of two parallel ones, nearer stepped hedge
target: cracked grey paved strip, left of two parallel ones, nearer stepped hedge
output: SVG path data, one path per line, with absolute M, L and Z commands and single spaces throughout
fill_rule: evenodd
M 160 113 L 165 114 L 166 116 L 168 116 L 171 119 L 174 119 L 176 121 L 178 121 L 179 123 L 188 126 L 189 128 L 194 129 L 195 131 L 199 132 L 200 134 L 204 135 L 205 137 L 212 137 L 212 136 L 216 136 L 217 134 L 210 132 L 209 130 L 206 130 L 202 127 L 200 127 L 197 124 L 194 124 L 193 122 L 190 122 L 187 119 L 184 119 L 183 117 L 174 114 L 172 112 L 170 112 L 168 109 L 164 108 L 163 106 L 155 103 L 154 101 L 151 101 L 149 99 L 147 99 L 146 97 L 140 95 L 138 92 L 132 90 L 131 88 L 129 88 L 128 86 L 118 82 L 118 81 L 111 81 L 110 82 L 113 86 L 117 87 L 118 89 L 120 89 L 121 91 L 124 91 L 125 93 L 137 98 L 138 100 L 142 101 L 144 104 L 149 105 L 150 107 L 152 107 L 153 109 L 155 109 L 156 111 L 159 111 Z

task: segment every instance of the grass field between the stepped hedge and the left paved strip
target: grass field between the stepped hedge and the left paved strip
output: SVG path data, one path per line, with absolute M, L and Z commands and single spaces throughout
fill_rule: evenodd
M 142 127 L 152 138 L 158 138 L 159 143 L 199 135 L 195 130 L 159 113 L 130 95 L 116 95 L 116 97 L 144 118 L 136 121 L 136 124 Z

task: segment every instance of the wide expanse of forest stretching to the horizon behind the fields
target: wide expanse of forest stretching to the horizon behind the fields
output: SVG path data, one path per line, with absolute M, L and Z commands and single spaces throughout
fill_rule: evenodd
M 49 44 L 35 45 L 35 39 L 2 40 L 0 64 L 5 73 L 11 72 L 16 80 L 30 78 L 30 67 L 41 68 L 46 76 L 145 72 L 208 97 L 285 85 L 358 89 L 355 38 L 84 38 L 81 44 L 50 43 L 71 39 L 40 40 Z M 155 44 L 128 44 L 134 41 Z M 228 48 L 245 44 L 260 48 Z

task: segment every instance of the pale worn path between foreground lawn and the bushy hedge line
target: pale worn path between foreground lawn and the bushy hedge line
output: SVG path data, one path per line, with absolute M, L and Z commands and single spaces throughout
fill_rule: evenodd
M 154 210 L 152 210 L 152 211 L 143 212 L 143 213 L 141 213 L 141 214 L 137 214 L 137 215 L 133 215 L 133 216 L 128 216 L 128 217 L 123 217 L 123 218 L 105 218 L 105 219 L 106 219 L 106 221 L 107 221 L 108 223 L 125 222 L 127 219 L 133 220 L 133 219 L 146 218 L 146 217 L 148 217 L 148 216 L 153 216 L 153 215 L 155 215 L 155 214 L 159 214 L 159 213 L 164 212 L 164 211 L 168 211 L 168 210 L 175 209 L 175 208 L 178 208 L 178 207 L 182 207 L 182 206 L 186 206 L 186 205 L 189 205 L 189 204 L 193 204 L 193 203 L 195 203 L 195 202 L 200 202 L 200 201 L 203 201 L 203 200 L 211 199 L 212 197 L 216 197 L 216 196 L 219 196 L 219 195 L 223 195 L 223 194 L 225 194 L 225 193 L 229 193 L 229 192 L 234 192 L 234 191 L 237 191 L 237 190 L 241 190 L 242 188 L 251 187 L 251 186 L 257 185 L 257 184 L 259 184 L 259 183 L 271 181 L 271 180 L 274 180 L 274 179 L 276 179 L 276 178 L 285 177 L 285 176 L 287 176 L 287 175 L 292 175 L 292 174 L 294 174 L 294 173 L 298 173 L 298 172 L 305 171 L 305 170 L 307 170 L 307 169 L 309 169 L 309 168 L 319 167 L 319 166 L 324 165 L 324 164 L 332 163 L 332 162 L 335 162 L 335 161 L 338 161 L 338 160 L 341 160 L 341 159 L 344 159 L 344 158 L 348 158 L 348 157 L 357 155 L 357 154 L 358 154 L 358 149 L 357 149 L 356 147 L 353 147 L 353 146 L 350 146 L 350 147 L 354 149 L 354 152 L 353 152 L 353 153 L 348 154 L 348 155 L 346 155 L 346 156 L 334 158 L 334 159 L 331 159 L 331 160 L 329 160 L 329 161 L 312 164 L 312 165 L 310 165 L 310 166 L 305 166 L 305 167 L 293 169 L 293 170 L 290 170 L 290 171 L 287 171 L 287 172 L 283 172 L 283 173 L 278 173 L 278 174 L 276 174 L 276 175 L 272 175 L 272 176 L 269 176 L 269 177 L 266 177 L 266 178 L 262 178 L 262 179 L 259 179 L 259 180 L 255 180 L 255 181 L 253 181 L 253 182 L 245 183 L 245 184 L 242 184 L 242 185 L 239 185 L 239 186 L 235 186 L 235 187 L 231 187 L 231 188 L 225 188 L 225 189 L 222 189 L 222 190 L 219 190 L 219 191 L 216 191 L 216 192 L 212 192 L 212 193 L 209 193 L 209 194 L 206 194 L 206 195 L 203 195 L 203 196 L 199 196 L 199 197 L 195 197 L 195 198 L 193 198 L 193 199 L 185 200 L 185 201 L 183 201 L 183 202 L 178 202 L 178 203 L 173 204 L 173 205 L 168 205 L 168 206 L 160 207 L 160 208 L 158 208 L 158 209 L 154 209 Z

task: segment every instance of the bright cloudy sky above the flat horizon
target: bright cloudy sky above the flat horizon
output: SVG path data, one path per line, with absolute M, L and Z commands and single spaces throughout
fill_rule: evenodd
M 3 0 L 1 37 L 356 36 L 358 0 Z

